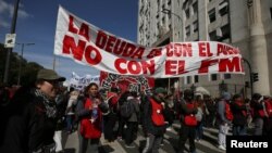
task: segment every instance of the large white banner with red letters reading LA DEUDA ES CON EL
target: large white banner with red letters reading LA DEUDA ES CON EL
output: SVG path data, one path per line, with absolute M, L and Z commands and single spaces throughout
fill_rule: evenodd
M 99 71 L 154 78 L 245 74 L 237 48 L 215 41 L 171 42 L 159 48 L 135 44 L 59 8 L 54 54 Z

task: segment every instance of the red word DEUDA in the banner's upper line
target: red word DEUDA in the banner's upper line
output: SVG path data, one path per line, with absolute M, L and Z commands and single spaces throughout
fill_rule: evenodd
M 96 46 L 116 55 L 132 59 L 141 59 L 145 51 L 143 47 L 137 47 L 114 36 L 107 35 L 102 30 L 99 30 L 97 34 Z

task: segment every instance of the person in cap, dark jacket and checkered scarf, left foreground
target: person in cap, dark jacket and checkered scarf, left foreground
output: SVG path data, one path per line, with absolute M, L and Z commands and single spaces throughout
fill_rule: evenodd
M 0 152 L 53 153 L 57 126 L 55 97 L 65 78 L 52 69 L 40 69 L 35 86 L 21 87 L 7 106 Z

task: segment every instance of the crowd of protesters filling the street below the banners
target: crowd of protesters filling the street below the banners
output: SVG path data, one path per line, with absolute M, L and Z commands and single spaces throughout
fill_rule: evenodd
M 104 91 L 95 82 L 79 91 L 62 87 L 64 80 L 54 71 L 41 69 L 35 86 L 21 87 L 16 92 L 5 86 L 0 88 L 0 152 L 61 153 L 62 132 L 75 131 L 79 153 L 87 149 L 98 153 L 101 137 L 107 143 L 124 140 L 126 148 L 136 148 L 139 128 L 146 137 L 140 152 L 158 152 L 165 132 L 176 130 L 176 120 L 181 125 L 175 146 L 178 153 L 184 152 L 187 140 L 189 152 L 196 153 L 195 142 L 203 139 L 203 127 L 219 129 L 221 150 L 226 149 L 231 128 L 234 136 L 272 137 L 272 99 L 260 93 L 244 99 L 225 91 L 213 99 L 195 95 L 190 89 L 171 92 L 158 87 L 152 94 L 145 94 L 118 88 Z

